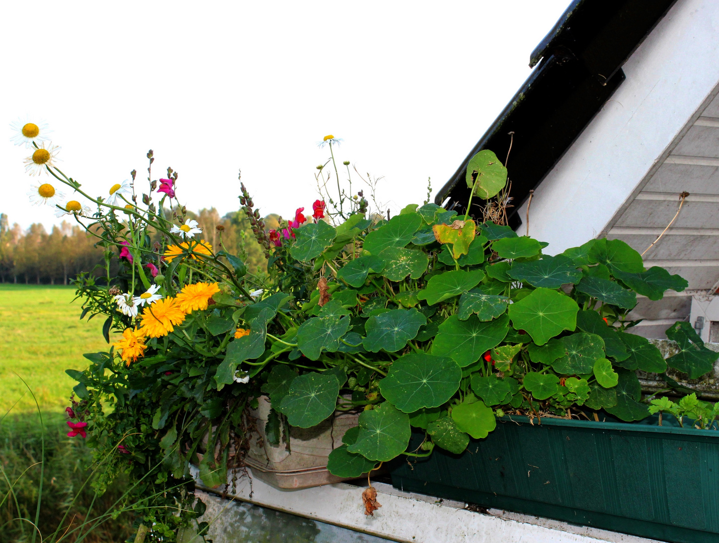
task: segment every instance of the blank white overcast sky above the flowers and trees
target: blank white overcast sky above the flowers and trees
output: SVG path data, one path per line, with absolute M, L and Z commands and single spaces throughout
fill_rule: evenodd
M 384 176 L 398 210 L 436 193 L 530 73 L 529 54 L 569 0 L 6 2 L 0 32 L 0 212 L 36 178 L 9 123 L 45 119 L 58 166 L 93 195 L 137 170 L 180 173 L 189 209 L 239 206 L 237 170 L 262 213 L 316 198 L 316 143 Z M 2 141 L 5 141 L 3 144 Z M 43 179 L 47 177 L 42 176 Z M 434 195 L 433 195 L 434 198 Z M 66 198 L 67 199 L 67 198 Z

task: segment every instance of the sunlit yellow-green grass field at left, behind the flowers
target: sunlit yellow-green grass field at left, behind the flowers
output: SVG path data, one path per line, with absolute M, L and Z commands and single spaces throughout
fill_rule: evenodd
M 0 417 L 35 409 L 17 375 L 35 392 L 43 412 L 61 412 L 76 384 L 65 369 L 87 366 L 83 353 L 107 351 L 101 316 L 79 320 L 73 287 L 0 284 Z M 17 373 L 17 375 L 16 375 Z

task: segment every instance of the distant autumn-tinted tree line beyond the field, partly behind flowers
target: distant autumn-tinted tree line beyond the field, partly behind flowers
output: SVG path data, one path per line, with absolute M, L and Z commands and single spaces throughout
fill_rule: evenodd
M 265 271 L 267 261 L 262 247 L 252 236 L 249 221 L 242 211 L 221 217 L 215 208 L 198 214 L 188 212 L 203 228 L 203 237 L 219 250 L 217 226 L 224 226 L 222 242 L 227 251 L 242 258 L 249 271 Z M 270 222 L 274 223 L 271 218 Z M 96 247 L 97 238 L 81 226 L 63 221 L 47 232 L 40 223 L 23 230 L 17 223 L 9 225 L 8 216 L 0 214 L 0 282 L 68 284 L 81 271 L 92 271 L 104 264 L 103 249 Z M 116 259 L 112 265 L 116 266 Z

